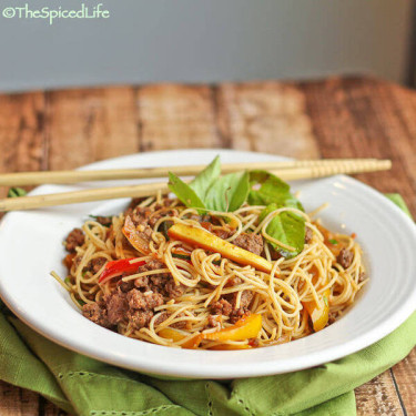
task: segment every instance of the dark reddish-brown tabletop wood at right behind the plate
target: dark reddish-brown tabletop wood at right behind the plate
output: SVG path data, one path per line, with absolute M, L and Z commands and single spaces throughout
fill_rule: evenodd
M 393 161 L 390 172 L 356 177 L 381 192 L 400 193 L 415 215 L 416 141 L 412 132 L 416 130 L 416 119 L 400 115 L 400 109 L 407 105 L 415 115 L 415 93 L 367 79 L 305 83 L 303 90 L 322 156 L 388 155 Z

